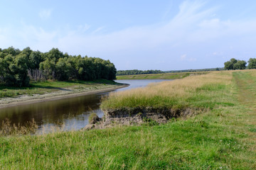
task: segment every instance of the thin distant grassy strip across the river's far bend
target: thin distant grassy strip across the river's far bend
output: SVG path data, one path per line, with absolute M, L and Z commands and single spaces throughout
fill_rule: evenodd
M 136 74 L 117 76 L 117 79 L 183 79 L 184 77 L 207 74 L 208 72 L 183 72 L 163 74 Z

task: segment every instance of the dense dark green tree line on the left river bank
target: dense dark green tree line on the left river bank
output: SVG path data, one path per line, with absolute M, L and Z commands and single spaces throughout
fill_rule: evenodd
M 116 79 L 117 69 L 110 60 L 98 57 L 63 54 L 58 48 L 49 52 L 0 48 L 0 83 L 7 86 L 29 86 L 30 81 L 55 79 Z

